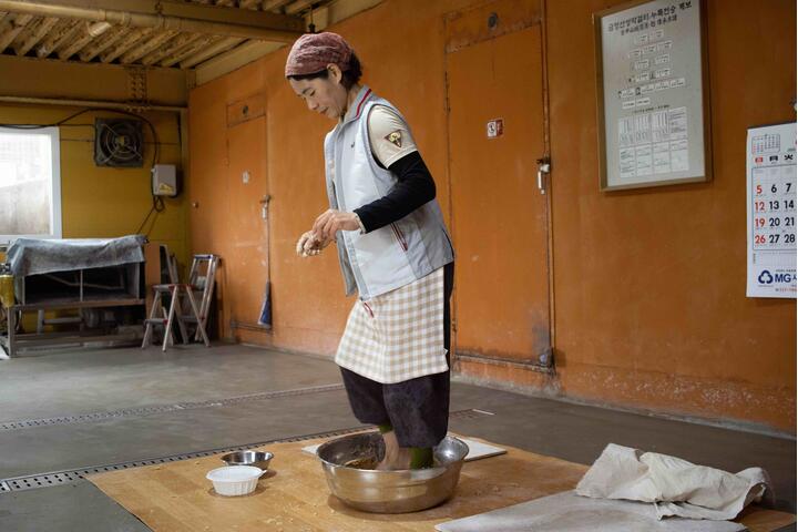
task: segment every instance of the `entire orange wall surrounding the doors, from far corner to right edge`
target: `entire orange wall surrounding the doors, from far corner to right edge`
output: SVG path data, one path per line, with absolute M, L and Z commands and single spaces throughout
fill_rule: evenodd
M 332 28 L 358 51 L 364 81 L 408 117 L 447 216 L 443 14 L 477 3 L 386 0 Z M 795 431 L 795 301 L 745 297 L 744 150 L 747 126 L 795 120 L 795 54 L 758 52 L 794 50 L 795 4 L 707 2 L 710 183 L 601 193 L 591 13 L 618 3 L 546 2 L 557 374 L 459 369 L 576 399 Z M 335 253 L 299 259 L 294 244 L 326 208 L 321 142 L 334 124 L 293 94 L 286 54 L 192 92 L 192 194 L 224 201 L 224 186 L 213 185 L 226 165 L 224 106 L 264 91 L 274 329 L 238 337 L 331 354 L 351 299 Z M 229 253 L 223 212 L 213 228 L 213 214 L 192 219 L 195 250 Z

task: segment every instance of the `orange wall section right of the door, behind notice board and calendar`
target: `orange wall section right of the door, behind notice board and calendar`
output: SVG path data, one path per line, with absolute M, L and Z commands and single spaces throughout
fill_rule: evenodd
M 795 299 L 745 296 L 745 145 L 795 121 L 795 2 L 706 2 L 710 183 L 601 193 L 591 12 L 617 3 L 549 2 L 561 390 L 794 432 Z

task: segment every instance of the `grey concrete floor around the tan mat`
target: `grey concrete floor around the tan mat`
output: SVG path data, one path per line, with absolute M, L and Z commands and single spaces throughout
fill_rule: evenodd
M 142 407 L 224 400 L 339 385 L 324 359 L 245 346 L 50 351 L 0 361 L 0 426 Z M 778 510 L 796 511 L 796 442 L 747 432 L 531 398 L 456 382 L 451 410 L 463 434 L 590 464 L 610 442 L 773 478 Z M 327 432 L 360 424 L 339 387 L 237 405 L 127 413 L 91 422 L 0 427 L 0 480 Z M 0 530 L 150 530 L 92 484 L 0 493 Z M 795 525 L 779 532 L 795 531 Z

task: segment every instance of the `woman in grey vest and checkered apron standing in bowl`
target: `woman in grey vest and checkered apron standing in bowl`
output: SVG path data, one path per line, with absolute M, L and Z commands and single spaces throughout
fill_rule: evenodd
M 407 122 L 360 73 L 335 33 L 305 34 L 288 54 L 291 89 L 337 121 L 324 145 L 330 208 L 297 253 L 336 242 L 347 295 L 358 291 L 335 360 L 355 416 L 382 433 L 378 469 L 426 468 L 448 428 L 453 249 Z

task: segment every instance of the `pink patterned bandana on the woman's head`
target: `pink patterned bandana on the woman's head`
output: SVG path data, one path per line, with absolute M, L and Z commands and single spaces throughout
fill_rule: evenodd
M 296 40 L 286 60 L 286 78 L 321 72 L 328 64 L 348 70 L 351 47 L 337 33 L 305 33 Z

